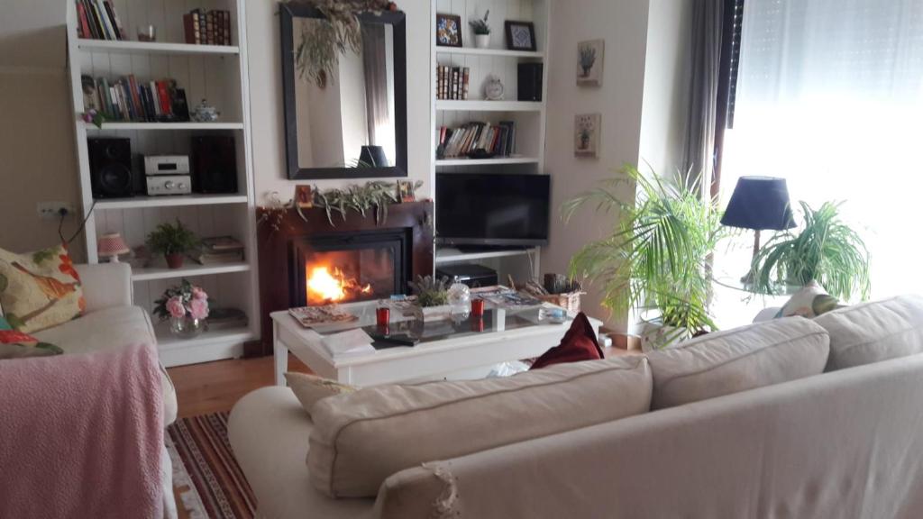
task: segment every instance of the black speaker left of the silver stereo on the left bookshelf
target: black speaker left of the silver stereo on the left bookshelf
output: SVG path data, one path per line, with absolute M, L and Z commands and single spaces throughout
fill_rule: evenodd
M 134 194 L 131 140 L 87 139 L 90 187 L 94 199 L 123 199 Z

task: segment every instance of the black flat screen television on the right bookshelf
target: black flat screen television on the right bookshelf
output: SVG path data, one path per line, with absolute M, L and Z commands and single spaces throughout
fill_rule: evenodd
M 460 246 L 537 246 L 548 243 L 548 175 L 436 175 L 437 242 Z

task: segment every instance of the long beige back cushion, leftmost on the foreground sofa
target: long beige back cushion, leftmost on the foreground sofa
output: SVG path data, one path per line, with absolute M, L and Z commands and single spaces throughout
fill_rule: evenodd
M 402 469 L 638 415 L 650 404 L 641 356 L 366 388 L 314 405 L 307 465 L 315 489 L 331 497 L 374 496 Z

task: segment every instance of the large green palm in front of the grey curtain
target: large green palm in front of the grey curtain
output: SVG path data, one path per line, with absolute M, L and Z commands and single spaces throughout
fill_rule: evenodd
M 657 311 L 655 321 L 675 328 L 666 343 L 715 330 L 708 308 L 708 256 L 726 231 L 714 200 L 701 198 L 701 178 L 678 172 L 649 178 L 629 164 L 621 172 L 623 178 L 607 180 L 564 205 L 566 221 L 587 204 L 597 212 L 618 213 L 611 235 L 570 260 L 570 275 L 600 286 L 603 305 L 611 311 Z M 637 199 L 619 199 L 617 188 L 625 182 L 636 185 Z

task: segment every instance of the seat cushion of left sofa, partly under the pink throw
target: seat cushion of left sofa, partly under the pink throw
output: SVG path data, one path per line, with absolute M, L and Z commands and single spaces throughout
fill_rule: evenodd
M 60 326 L 34 334 L 40 341 L 56 344 L 65 354 L 81 354 L 118 348 L 127 344 L 157 344 L 148 312 L 138 307 L 113 307 L 90 312 Z M 173 381 L 161 367 L 163 422 L 176 419 L 176 391 Z

